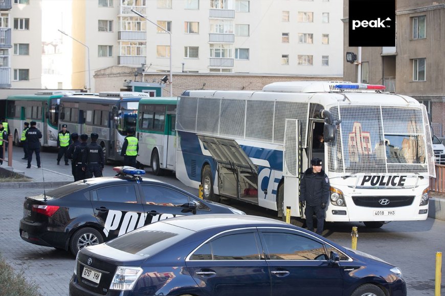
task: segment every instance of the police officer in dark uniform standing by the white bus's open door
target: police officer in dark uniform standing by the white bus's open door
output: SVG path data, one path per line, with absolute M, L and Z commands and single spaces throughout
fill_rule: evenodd
M 304 172 L 300 183 L 300 201 L 304 206 L 307 229 L 314 231 L 312 216 L 317 217 L 317 234 L 323 234 L 324 211 L 329 200 L 329 178 L 322 170 L 320 158 L 310 160 L 311 167 Z

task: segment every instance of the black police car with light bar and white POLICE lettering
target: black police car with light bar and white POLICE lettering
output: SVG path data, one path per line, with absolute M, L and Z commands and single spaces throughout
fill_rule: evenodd
M 133 167 L 118 175 L 86 179 L 25 198 L 20 237 L 27 242 L 70 249 L 100 244 L 154 221 L 193 214 L 241 214 L 199 199 L 165 182 L 141 178 Z

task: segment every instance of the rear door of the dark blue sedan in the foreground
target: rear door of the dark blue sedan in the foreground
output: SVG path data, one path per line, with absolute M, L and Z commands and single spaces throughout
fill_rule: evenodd
M 270 296 L 269 268 L 255 229 L 226 232 L 195 250 L 187 269 L 206 295 Z

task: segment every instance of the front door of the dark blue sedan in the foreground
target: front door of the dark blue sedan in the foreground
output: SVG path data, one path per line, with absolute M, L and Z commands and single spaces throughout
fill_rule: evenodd
M 272 295 L 343 295 L 338 264 L 328 260 L 324 243 L 304 232 L 260 229 L 272 278 Z

